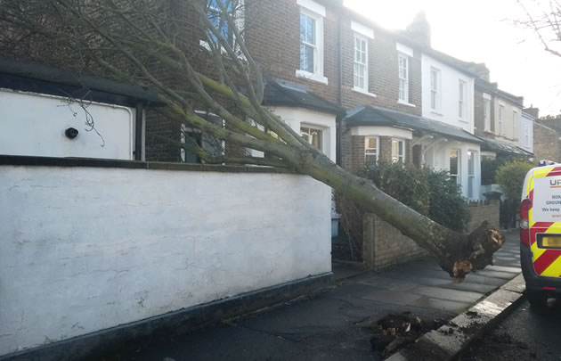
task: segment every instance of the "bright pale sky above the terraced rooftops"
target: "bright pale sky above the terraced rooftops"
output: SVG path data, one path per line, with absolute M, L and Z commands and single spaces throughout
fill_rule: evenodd
M 561 113 L 561 57 L 549 54 L 530 29 L 516 0 L 345 0 L 386 29 L 405 29 L 424 11 L 432 46 L 466 62 L 484 62 L 491 81 L 508 93 L 524 96 L 524 106 L 540 116 Z

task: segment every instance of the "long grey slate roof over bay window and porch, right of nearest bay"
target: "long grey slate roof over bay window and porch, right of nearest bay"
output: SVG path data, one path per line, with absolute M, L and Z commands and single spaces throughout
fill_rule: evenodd
M 454 127 L 440 121 L 422 118 L 397 111 L 373 107 L 370 105 L 355 108 L 347 113 L 346 119 L 350 126 L 390 126 L 404 127 L 413 130 L 438 134 L 463 142 L 481 144 L 481 139 L 469 134 L 460 127 Z

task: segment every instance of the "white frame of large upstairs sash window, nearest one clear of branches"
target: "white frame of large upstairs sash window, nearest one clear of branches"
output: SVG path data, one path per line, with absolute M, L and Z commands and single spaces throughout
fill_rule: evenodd
M 316 44 L 313 45 L 313 72 L 301 70 L 299 69 L 300 65 L 298 65 L 296 76 L 297 78 L 306 78 L 327 85 L 328 78 L 323 76 L 323 52 L 325 47 L 323 41 L 323 18 L 325 17 L 325 8 L 311 0 L 297 0 L 297 4 L 300 5 L 300 14 L 304 14 L 315 21 Z M 302 44 L 302 39 L 299 39 L 298 44 Z M 301 56 L 301 54 L 298 56 Z M 298 59 L 299 63 L 300 59 Z

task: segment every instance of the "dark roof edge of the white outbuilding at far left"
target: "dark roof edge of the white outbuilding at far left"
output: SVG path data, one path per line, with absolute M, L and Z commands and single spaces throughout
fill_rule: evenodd
M 81 75 L 37 63 L 0 58 L 0 88 L 59 95 L 99 103 L 161 106 L 158 94 L 148 86 L 136 86 L 107 78 Z

